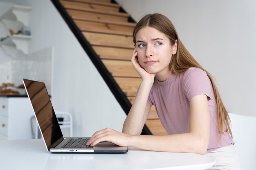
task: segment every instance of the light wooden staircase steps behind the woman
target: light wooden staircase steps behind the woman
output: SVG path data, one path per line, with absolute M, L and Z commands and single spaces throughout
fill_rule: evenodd
M 52 0 L 54 1 L 56 0 Z M 112 3 L 111 0 L 59 2 L 132 104 L 141 83 L 139 74 L 130 62 L 134 50 L 132 31 L 136 23 L 129 22 L 130 15 L 120 12 L 120 5 Z M 146 126 L 153 135 L 167 134 L 154 106 L 151 108 Z

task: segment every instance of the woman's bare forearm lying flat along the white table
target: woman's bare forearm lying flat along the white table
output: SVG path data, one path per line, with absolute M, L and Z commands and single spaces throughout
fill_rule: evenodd
M 204 155 L 207 152 L 209 139 L 193 133 L 175 135 L 133 135 L 130 136 L 128 146 L 144 150 L 162 152 L 198 153 Z

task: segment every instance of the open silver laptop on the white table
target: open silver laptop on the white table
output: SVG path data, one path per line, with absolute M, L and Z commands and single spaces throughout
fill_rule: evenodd
M 127 147 L 111 142 L 87 146 L 90 137 L 63 137 L 45 83 L 23 79 L 47 150 L 51 153 L 127 153 Z

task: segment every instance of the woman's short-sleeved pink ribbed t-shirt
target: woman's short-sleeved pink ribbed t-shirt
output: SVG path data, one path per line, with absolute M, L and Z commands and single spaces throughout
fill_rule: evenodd
M 155 82 L 148 96 L 148 103 L 155 109 L 162 125 L 169 135 L 189 132 L 189 101 L 191 98 L 205 94 L 211 118 L 210 142 L 208 150 L 234 144 L 229 133 L 225 132 L 219 139 L 216 100 L 211 81 L 206 72 L 198 68 L 189 68 L 186 72 L 172 74 L 166 81 Z M 226 126 L 224 126 L 226 129 Z M 188 141 L 189 142 L 189 141 Z

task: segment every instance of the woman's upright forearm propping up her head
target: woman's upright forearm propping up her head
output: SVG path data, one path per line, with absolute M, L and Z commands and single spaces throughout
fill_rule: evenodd
M 123 133 L 139 135 L 145 124 L 148 115 L 145 115 L 145 109 L 148 101 L 148 95 L 153 85 L 152 81 L 142 81 L 135 101 L 128 113 L 123 125 Z M 149 111 L 148 111 L 149 112 Z

